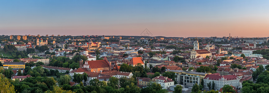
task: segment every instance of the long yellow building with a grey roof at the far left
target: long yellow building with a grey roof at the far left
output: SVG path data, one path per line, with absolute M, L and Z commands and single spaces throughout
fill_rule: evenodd
M 13 69 L 25 69 L 24 62 L 5 62 L 3 66 L 8 66 Z

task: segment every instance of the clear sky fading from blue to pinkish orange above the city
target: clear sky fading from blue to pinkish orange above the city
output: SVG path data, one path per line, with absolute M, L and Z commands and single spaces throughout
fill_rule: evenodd
M 268 37 L 269 0 L 1 0 L 2 35 Z

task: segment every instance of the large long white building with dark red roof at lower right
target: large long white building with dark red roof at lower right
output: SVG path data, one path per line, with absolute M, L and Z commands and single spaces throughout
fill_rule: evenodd
M 207 84 L 209 82 L 211 82 L 211 85 L 212 85 L 212 82 L 215 82 L 216 90 L 220 90 L 224 85 L 230 85 L 230 86 L 239 88 L 239 81 L 240 81 L 240 78 L 238 78 L 235 75 L 222 76 L 218 73 L 208 74 L 204 78 L 204 88 L 208 88 Z

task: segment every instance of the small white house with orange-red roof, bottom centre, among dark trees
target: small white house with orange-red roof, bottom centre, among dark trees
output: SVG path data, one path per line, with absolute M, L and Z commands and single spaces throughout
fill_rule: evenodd
M 158 76 L 152 79 L 152 81 L 157 82 L 160 84 L 163 88 L 162 89 L 168 89 L 170 86 L 174 86 L 174 81 L 168 77 L 164 76 Z

